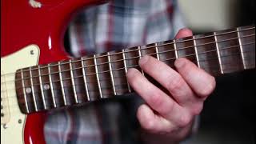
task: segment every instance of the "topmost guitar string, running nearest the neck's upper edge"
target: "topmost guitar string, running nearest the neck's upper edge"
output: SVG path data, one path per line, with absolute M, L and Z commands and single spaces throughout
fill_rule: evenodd
M 202 39 L 202 38 L 210 38 L 210 37 L 215 37 L 215 36 L 219 36 L 219 35 L 223 35 L 223 34 L 231 34 L 231 33 L 239 33 L 239 32 L 242 32 L 242 31 L 246 31 L 246 30 L 253 30 L 255 29 L 255 27 L 250 27 L 250 28 L 247 28 L 247 29 L 243 29 L 243 30 L 233 30 L 233 31 L 229 31 L 229 32 L 225 32 L 225 33 L 221 33 L 221 34 L 213 34 L 213 35 L 207 35 L 207 36 L 203 36 L 203 37 L 200 37 L 200 38 L 192 38 L 192 39 L 186 39 L 186 40 L 180 40 L 179 39 L 176 39 L 175 42 L 169 42 L 169 43 L 165 43 L 165 44 L 161 44 L 161 45 L 158 45 L 158 46 L 168 46 L 168 45 L 171 45 L 171 44 L 178 44 L 180 42 L 187 42 L 187 41 L 194 41 L 194 40 L 198 40 L 198 39 Z M 254 34 L 251 34 L 250 36 L 254 36 Z M 239 37 L 238 37 L 239 38 Z M 230 39 L 238 39 L 238 38 L 230 38 Z M 240 37 L 240 38 L 245 38 L 245 37 Z M 182 39 L 182 38 L 180 38 Z M 230 39 L 227 39 L 230 40 Z M 224 42 L 224 41 L 219 41 L 219 42 Z M 157 42 L 158 43 L 158 42 Z M 159 42 L 161 43 L 161 42 Z M 218 43 L 218 42 L 214 42 L 214 43 Z M 149 44 L 150 45 L 150 44 Z M 152 44 L 151 44 L 152 45 Z M 203 46 L 203 45 L 201 45 Z M 135 47 L 138 47 L 138 46 L 135 46 Z M 155 48 L 156 46 L 148 46 L 148 47 L 145 47 L 141 50 L 147 50 L 147 49 L 150 49 L 150 48 Z M 129 49 L 129 48 L 128 48 Z M 136 49 L 138 50 L 138 49 Z M 179 50 L 179 49 L 177 49 Z M 129 50 L 129 51 L 124 51 L 125 53 L 129 53 L 129 52 L 132 52 L 132 51 L 135 51 L 135 50 Z M 122 54 L 122 52 L 118 52 L 118 53 L 114 53 L 114 54 L 110 54 L 110 56 L 113 56 L 113 55 L 117 55 L 117 54 Z M 107 57 L 108 55 L 105 54 L 105 55 L 100 55 L 100 56 L 96 56 L 95 58 L 102 58 L 102 57 Z M 94 59 L 94 57 L 91 57 L 91 58 L 86 58 L 84 59 L 83 61 L 88 61 L 90 59 Z M 74 61 L 74 62 L 81 62 L 81 60 L 77 60 L 77 61 Z M 62 65 L 65 65 L 65 64 L 69 64 L 70 62 L 63 62 Z M 58 66 L 58 64 L 56 65 L 51 65 L 51 66 Z M 49 66 L 42 66 L 40 68 L 48 68 Z M 31 70 L 38 70 L 38 68 L 33 68 Z M 26 71 L 29 71 L 29 70 L 24 70 L 24 72 Z M 15 73 L 8 73 L 8 74 L 15 74 Z M 1 74 L 2 76 L 3 74 Z

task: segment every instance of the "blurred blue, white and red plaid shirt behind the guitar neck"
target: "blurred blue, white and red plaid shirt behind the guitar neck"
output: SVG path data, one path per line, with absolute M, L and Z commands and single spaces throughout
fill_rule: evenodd
M 71 22 L 74 57 L 140 46 L 174 38 L 184 27 L 176 1 L 115 0 L 90 7 Z M 49 113 L 44 127 L 47 143 L 139 143 L 138 95 L 93 102 Z

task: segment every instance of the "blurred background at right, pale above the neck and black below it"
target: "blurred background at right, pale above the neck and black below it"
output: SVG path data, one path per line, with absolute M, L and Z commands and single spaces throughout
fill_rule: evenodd
M 254 0 L 178 0 L 195 34 L 255 23 Z M 206 100 L 198 133 L 187 143 L 255 143 L 255 70 L 225 74 Z M 185 142 L 186 143 L 186 142 Z

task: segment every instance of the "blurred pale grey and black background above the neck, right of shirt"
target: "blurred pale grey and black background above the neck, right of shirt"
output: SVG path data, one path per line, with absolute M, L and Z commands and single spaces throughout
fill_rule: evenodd
M 178 0 L 186 25 L 197 32 L 254 23 L 254 0 Z

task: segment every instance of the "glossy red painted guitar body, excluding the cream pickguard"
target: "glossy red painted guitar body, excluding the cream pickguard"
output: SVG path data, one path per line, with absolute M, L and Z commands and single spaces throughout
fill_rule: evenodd
M 39 64 L 69 58 L 63 37 L 74 12 L 91 6 L 96 0 L 40 0 L 34 8 L 29 0 L 1 1 L 1 57 L 35 44 L 40 49 Z M 44 144 L 46 113 L 28 114 L 24 128 L 26 144 Z

